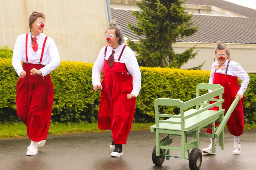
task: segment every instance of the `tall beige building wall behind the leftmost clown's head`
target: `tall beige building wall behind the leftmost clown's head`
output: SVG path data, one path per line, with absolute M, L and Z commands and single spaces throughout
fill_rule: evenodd
M 29 32 L 33 11 L 46 15 L 44 33 L 54 39 L 62 61 L 93 63 L 106 45 L 105 0 L 0 0 L 0 46 L 13 48 L 18 35 Z

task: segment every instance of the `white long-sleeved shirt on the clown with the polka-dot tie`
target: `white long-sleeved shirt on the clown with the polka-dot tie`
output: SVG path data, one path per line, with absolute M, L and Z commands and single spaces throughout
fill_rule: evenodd
M 34 36 L 32 37 L 34 38 Z M 38 50 L 35 52 L 32 49 L 31 35 L 30 33 L 28 34 L 28 63 L 39 64 L 45 37 L 46 35 L 44 35 L 43 33 L 40 33 L 40 35 L 36 37 L 36 42 L 38 43 Z M 13 48 L 12 61 L 13 68 L 15 69 L 18 76 L 20 76 L 20 72 L 24 71 L 21 62 L 23 61 L 24 63 L 26 63 L 26 34 L 19 35 L 16 39 Z M 45 67 L 39 70 L 41 71 L 42 76 L 48 75 L 60 65 L 60 57 L 57 46 L 54 40 L 50 37 L 48 37 L 46 40 L 44 55 L 41 64 L 45 65 Z

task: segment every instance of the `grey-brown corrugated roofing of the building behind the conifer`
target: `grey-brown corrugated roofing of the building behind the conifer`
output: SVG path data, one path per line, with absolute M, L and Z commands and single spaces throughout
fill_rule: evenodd
M 235 12 L 241 17 L 193 15 L 195 24 L 200 24 L 198 32 L 191 37 L 178 38 L 178 42 L 217 42 L 253 43 L 256 44 L 256 10 L 242 7 L 223 0 L 187 0 L 185 4 L 209 5 Z M 126 37 L 138 40 L 138 37 L 127 27 L 127 21 L 136 25 L 137 21 L 129 10 L 111 8 L 112 18 L 117 19 Z M 141 38 L 144 38 L 143 36 Z

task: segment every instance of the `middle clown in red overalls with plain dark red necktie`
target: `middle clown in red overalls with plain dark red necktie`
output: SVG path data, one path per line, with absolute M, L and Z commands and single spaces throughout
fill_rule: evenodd
M 114 150 L 111 156 L 120 157 L 134 118 L 136 97 L 141 89 L 141 71 L 134 52 L 123 44 L 123 32 L 114 21 L 106 36 L 108 45 L 100 50 L 94 63 L 92 83 L 95 91 L 101 90 L 98 128 L 112 130 L 110 148 Z

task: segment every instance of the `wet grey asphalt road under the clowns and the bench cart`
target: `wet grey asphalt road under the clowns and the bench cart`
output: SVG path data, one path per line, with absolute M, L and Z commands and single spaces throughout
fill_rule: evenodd
M 173 146 L 180 146 L 173 137 Z M 225 149 L 217 146 L 216 155 L 203 155 L 200 170 L 255 170 L 256 131 L 245 130 L 240 137 L 241 154 L 233 155 L 233 137 L 225 131 Z M 189 170 L 188 160 L 170 158 L 161 167 L 152 163 L 155 133 L 131 131 L 121 158 L 111 158 L 111 133 L 85 133 L 48 137 L 36 156 L 26 156 L 28 139 L 0 140 L 0 170 Z M 200 149 L 209 145 L 201 138 Z M 172 151 L 181 156 L 179 151 Z

